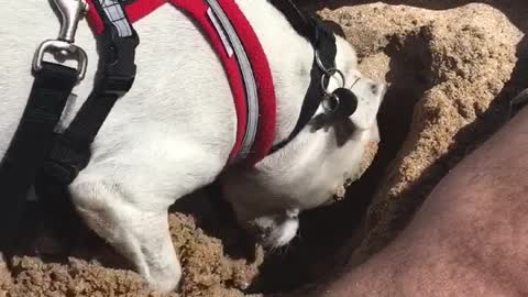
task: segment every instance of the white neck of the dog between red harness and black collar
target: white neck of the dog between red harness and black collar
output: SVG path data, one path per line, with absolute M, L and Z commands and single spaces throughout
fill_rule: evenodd
M 314 48 L 268 1 L 237 0 L 237 3 L 258 36 L 272 70 L 277 100 L 276 144 L 297 123 L 310 84 Z

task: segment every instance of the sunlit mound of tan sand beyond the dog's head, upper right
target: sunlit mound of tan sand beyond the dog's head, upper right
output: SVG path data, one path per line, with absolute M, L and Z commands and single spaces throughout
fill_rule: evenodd
M 517 13 L 528 12 L 519 4 Z M 388 100 L 418 98 L 409 134 L 367 209 L 366 237 L 356 253 L 371 254 L 406 226 L 441 176 L 508 119 L 507 100 L 526 86 L 510 81 L 517 55 L 526 58 L 516 48 L 522 33 L 510 15 L 484 3 L 435 12 L 377 3 L 323 13 L 345 24 L 366 73 L 376 75 L 373 69 L 383 65 L 394 88 L 413 88 L 410 96 Z M 376 26 L 361 34 L 367 24 Z M 398 109 L 398 102 L 387 105 Z

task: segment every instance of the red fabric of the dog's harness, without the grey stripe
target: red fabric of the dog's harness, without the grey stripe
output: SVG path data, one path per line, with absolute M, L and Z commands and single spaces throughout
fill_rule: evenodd
M 87 2 L 92 7 L 92 0 L 87 0 Z M 205 0 L 136 0 L 125 7 L 125 12 L 129 21 L 133 23 L 167 2 L 177 9 L 186 11 L 200 24 L 204 33 L 209 36 L 209 42 L 217 50 L 216 52 L 223 64 L 233 95 L 238 118 L 237 142 L 230 154 L 230 162 L 234 162 L 241 151 L 248 123 L 248 103 L 244 82 L 237 58 L 234 55 L 230 56 L 227 53 L 219 32 L 207 14 L 208 4 Z M 217 2 L 234 26 L 248 53 L 251 68 L 256 80 L 258 95 L 258 129 L 250 154 L 243 160 L 246 165 L 252 166 L 268 154 L 275 136 L 276 103 L 273 78 L 258 37 L 240 8 L 233 0 L 217 0 Z M 95 33 L 100 35 L 103 32 L 103 22 L 97 13 L 97 10 L 90 9 L 87 18 Z

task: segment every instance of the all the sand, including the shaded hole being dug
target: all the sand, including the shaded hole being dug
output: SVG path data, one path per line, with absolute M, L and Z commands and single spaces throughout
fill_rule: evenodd
M 301 217 L 288 251 L 264 255 L 248 243 L 215 191 L 176 206 L 169 222 L 184 278 L 165 296 L 289 290 L 348 260 L 361 263 L 508 119 L 508 100 L 528 87 L 525 0 L 299 2 L 341 23 L 361 70 L 389 84 L 378 153 L 345 199 Z M 31 249 L 10 258 L 10 271 L 0 265 L 0 296 L 161 296 L 87 230 L 68 248 L 52 223 L 42 230 L 28 235 Z

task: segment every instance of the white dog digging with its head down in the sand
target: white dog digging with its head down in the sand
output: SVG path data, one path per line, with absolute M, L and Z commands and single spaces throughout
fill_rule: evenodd
M 56 36 L 59 22 L 48 1 L 0 3 L 1 158 L 30 94 L 34 51 L 44 38 Z M 314 48 L 267 1 L 237 3 L 268 58 L 278 143 L 298 120 Z M 346 142 L 338 144 L 333 127 L 307 125 L 253 168 L 226 169 L 237 116 L 224 70 L 208 40 L 169 4 L 135 23 L 135 29 L 141 36 L 136 52 L 141 70 L 134 87 L 113 108 L 92 144 L 88 166 L 69 190 L 86 223 L 160 290 L 174 289 L 182 274 L 167 224 L 167 208 L 179 197 L 220 176 L 240 223 L 258 232 L 265 244 L 284 245 L 297 232 L 298 212 L 327 202 L 345 179 L 355 177 L 369 143 L 378 141 L 376 114 L 385 85 L 361 76 L 354 50 L 338 36 L 336 64 L 359 99 L 350 118 L 355 130 Z M 98 53 L 86 21 L 79 24 L 76 44 L 90 61 L 59 130 L 94 87 Z M 337 85 L 331 81 L 329 91 Z M 319 108 L 317 114 L 321 112 Z

